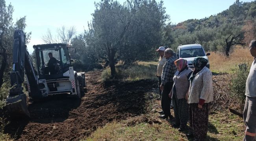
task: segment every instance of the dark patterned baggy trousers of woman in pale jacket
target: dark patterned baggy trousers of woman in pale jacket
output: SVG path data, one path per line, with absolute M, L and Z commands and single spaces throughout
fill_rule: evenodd
M 208 130 L 208 103 L 198 108 L 198 103 L 189 104 L 189 130 L 198 141 L 205 141 Z

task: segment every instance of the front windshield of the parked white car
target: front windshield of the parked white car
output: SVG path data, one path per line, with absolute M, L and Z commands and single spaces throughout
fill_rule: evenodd
M 180 58 L 205 56 L 202 48 L 180 50 Z

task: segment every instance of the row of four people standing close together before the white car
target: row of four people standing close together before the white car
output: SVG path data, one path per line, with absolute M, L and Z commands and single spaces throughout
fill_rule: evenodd
M 170 105 L 173 102 L 175 123 L 183 131 L 189 120 L 188 137 L 203 141 L 208 130 L 208 103 L 213 101 L 211 71 L 208 60 L 197 57 L 192 62 L 195 70 L 187 67 L 187 60 L 178 58 L 172 49 L 159 47 L 158 82 L 163 119 L 171 119 Z M 162 72 L 161 72 L 162 71 Z M 161 76 L 160 76 L 161 73 Z

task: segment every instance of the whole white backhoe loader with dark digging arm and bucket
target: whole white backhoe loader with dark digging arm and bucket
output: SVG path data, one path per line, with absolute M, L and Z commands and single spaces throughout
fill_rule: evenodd
M 6 99 L 9 114 L 13 117 L 30 117 L 27 96 L 22 87 L 25 78 L 28 96 L 33 101 L 56 94 L 70 94 L 81 98 L 86 87 L 85 73 L 74 71 L 67 44 L 33 45 L 33 63 L 25 45 L 25 38 L 22 30 L 15 31 L 13 68 L 10 72 L 12 87 Z

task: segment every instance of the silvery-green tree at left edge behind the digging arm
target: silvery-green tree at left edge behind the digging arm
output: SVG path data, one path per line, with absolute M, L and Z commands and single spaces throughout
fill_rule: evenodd
M 3 80 L 9 78 L 7 72 L 11 69 L 12 61 L 12 46 L 13 46 L 13 33 L 15 29 L 26 28 L 26 16 L 20 18 L 13 23 L 13 6 L 6 5 L 5 0 L 0 0 L 0 89 Z M 26 43 L 30 41 L 30 33 L 26 34 Z M 8 54 L 8 55 L 7 55 Z M 0 94 L 1 96 L 1 94 Z

